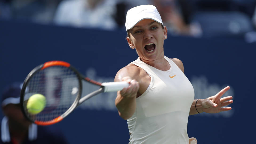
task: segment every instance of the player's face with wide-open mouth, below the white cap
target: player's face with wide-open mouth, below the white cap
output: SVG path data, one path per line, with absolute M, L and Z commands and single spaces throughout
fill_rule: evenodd
M 157 60 L 163 56 L 163 41 L 167 37 L 166 26 L 152 19 L 143 19 L 129 30 L 127 41 L 144 62 Z

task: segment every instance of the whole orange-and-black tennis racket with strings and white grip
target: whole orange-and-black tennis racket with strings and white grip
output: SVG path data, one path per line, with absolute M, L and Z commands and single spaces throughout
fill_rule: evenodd
M 101 87 L 81 98 L 82 80 Z M 35 67 L 27 75 L 21 89 L 20 103 L 22 112 L 29 121 L 37 125 L 51 125 L 68 116 L 87 99 L 128 86 L 127 82 L 100 83 L 84 77 L 67 62 L 49 61 Z M 41 94 L 46 98 L 45 108 L 37 114 L 31 114 L 27 109 L 27 101 L 34 94 Z

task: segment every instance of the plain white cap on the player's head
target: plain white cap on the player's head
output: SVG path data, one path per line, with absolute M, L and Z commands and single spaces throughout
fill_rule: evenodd
M 128 29 L 133 28 L 137 23 L 143 19 L 152 19 L 158 23 L 162 23 L 161 16 L 157 11 L 157 8 L 153 5 L 141 5 L 131 8 L 126 14 L 126 32 Z

